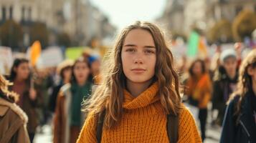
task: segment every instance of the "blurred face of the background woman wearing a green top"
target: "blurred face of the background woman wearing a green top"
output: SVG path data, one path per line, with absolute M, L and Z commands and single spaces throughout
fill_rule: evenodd
M 84 83 L 90 74 L 90 69 L 87 63 L 78 61 L 74 66 L 74 75 L 77 83 Z

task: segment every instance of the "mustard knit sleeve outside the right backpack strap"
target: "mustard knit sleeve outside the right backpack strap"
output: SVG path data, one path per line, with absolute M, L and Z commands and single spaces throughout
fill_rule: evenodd
M 201 137 L 196 127 L 196 122 L 191 112 L 186 107 L 181 110 L 179 117 L 179 140 L 178 143 L 191 142 L 199 143 L 202 142 Z

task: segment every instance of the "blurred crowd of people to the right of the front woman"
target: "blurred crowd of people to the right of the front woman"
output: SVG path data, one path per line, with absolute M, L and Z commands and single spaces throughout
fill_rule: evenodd
M 245 57 L 242 57 L 242 51 L 244 51 Z M 247 54 L 250 51 L 250 61 L 247 61 Z M 217 45 L 215 54 L 212 57 L 212 62 L 209 62 L 209 59 L 195 59 L 187 69 L 188 74 L 181 75 L 181 81 L 183 81 L 184 84 L 184 102 L 188 102 L 199 110 L 198 118 L 203 141 L 207 137 L 206 126 L 208 115 L 212 116 L 210 127 L 224 126 L 228 128 L 224 128 L 221 142 L 234 142 L 233 139 L 236 139 L 238 135 L 236 130 L 237 124 L 231 124 L 231 121 L 235 119 L 234 111 L 232 110 L 232 113 L 227 113 L 227 103 L 229 100 L 233 99 L 234 96 L 241 97 L 242 94 L 243 97 L 245 92 L 250 92 L 250 94 L 255 93 L 252 92 L 254 77 L 251 75 L 251 77 L 247 76 L 247 79 L 245 79 L 243 75 L 247 74 L 246 70 L 248 66 L 252 66 L 252 69 L 254 68 L 255 56 L 255 49 L 245 49 L 241 43 L 234 44 L 234 49 L 224 49 Z M 248 62 L 250 63 L 248 64 Z M 209 66 L 209 64 L 212 64 L 212 66 Z M 181 70 L 184 70 L 184 65 L 180 67 Z M 186 73 L 186 71 L 181 72 Z M 245 83 L 245 80 L 247 80 L 246 85 L 244 84 L 244 86 L 242 86 L 238 84 L 239 81 Z M 240 94 L 235 94 L 237 91 L 241 91 L 242 88 L 246 88 L 247 90 L 243 90 Z M 232 94 L 234 95 L 232 96 Z M 255 106 L 256 102 L 254 100 L 247 104 Z M 256 119 L 253 117 L 253 110 L 255 111 L 255 109 L 251 110 L 248 119 Z M 210 114 L 208 114 L 208 111 L 210 111 Z M 250 127 L 248 123 L 246 124 L 247 127 L 251 129 L 250 132 L 244 134 L 245 137 L 241 137 L 242 132 L 240 131 L 241 135 L 237 137 L 237 141 L 245 142 L 247 139 L 250 139 L 250 136 L 255 132 L 254 125 L 256 124 L 256 120 L 255 123 L 250 122 L 252 127 Z M 233 127 L 230 128 L 230 126 Z M 247 131 L 244 125 L 241 126 Z

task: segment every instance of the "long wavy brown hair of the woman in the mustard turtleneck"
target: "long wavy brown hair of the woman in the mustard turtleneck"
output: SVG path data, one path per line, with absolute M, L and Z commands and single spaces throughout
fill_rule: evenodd
M 121 60 L 123 41 L 133 29 L 149 31 L 156 45 L 156 69 L 154 79 L 158 83 L 158 95 L 166 114 L 179 114 L 181 97 L 179 94 L 179 79 L 174 69 L 174 57 L 167 46 L 163 31 L 149 22 L 136 21 L 127 26 L 115 41 L 115 46 L 105 56 L 103 64 L 103 81 L 98 85 L 92 97 L 85 101 L 84 111 L 99 115 L 105 110 L 105 127 L 115 127 L 123 114 L 123 89 L 125 74 Z

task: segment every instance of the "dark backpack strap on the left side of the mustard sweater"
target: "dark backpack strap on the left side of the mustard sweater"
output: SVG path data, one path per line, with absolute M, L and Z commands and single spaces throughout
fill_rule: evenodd
M 97 137 L 97 142 L 101 142 L 101 137 L 103 134 L 103 124 L 104 124 L 104 119 L 105 119 L 105 109 L 103 112 L 99 115 L 98 117 L 98 122 L 97 122 L 97 127 L 96 127 L 96 137 Z

